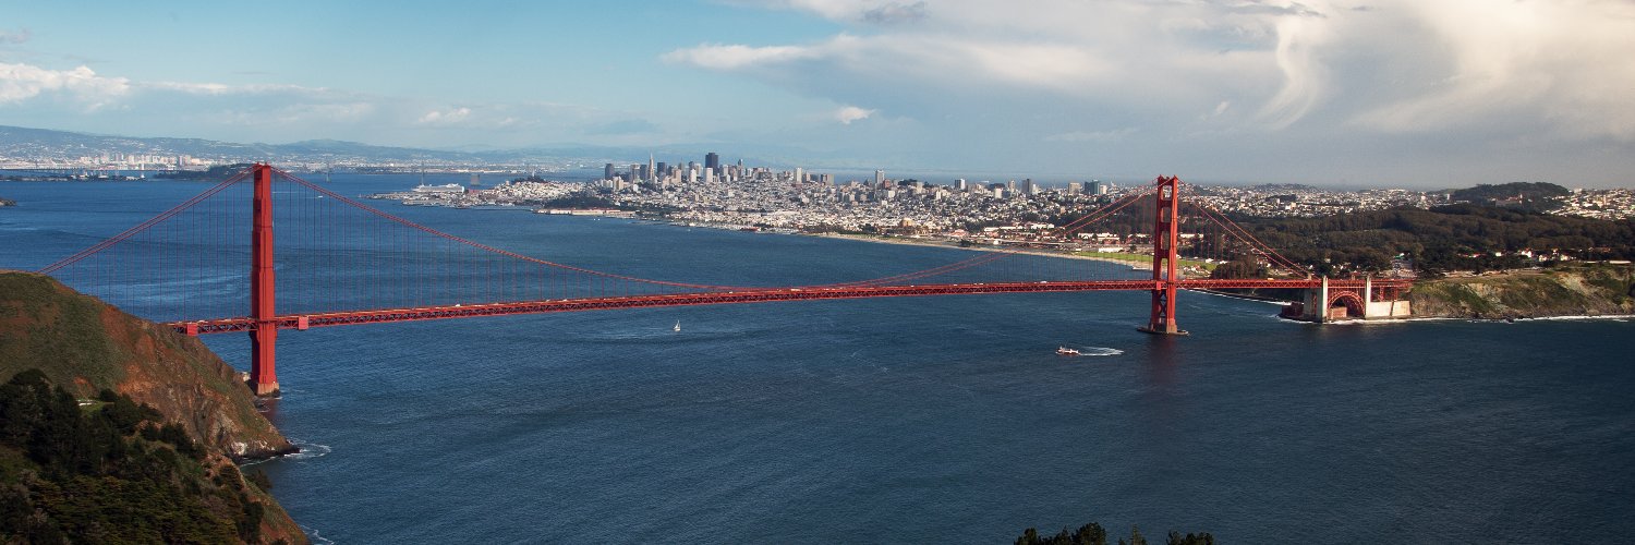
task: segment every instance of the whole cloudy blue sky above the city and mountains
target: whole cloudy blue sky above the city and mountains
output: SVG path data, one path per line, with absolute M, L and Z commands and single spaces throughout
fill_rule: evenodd
M 1635 0 L 0 0 L 0 124 L 1628 188 Z

